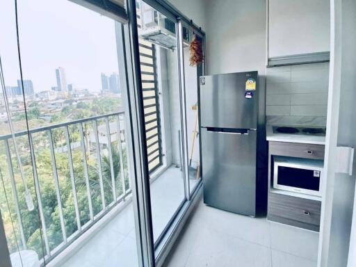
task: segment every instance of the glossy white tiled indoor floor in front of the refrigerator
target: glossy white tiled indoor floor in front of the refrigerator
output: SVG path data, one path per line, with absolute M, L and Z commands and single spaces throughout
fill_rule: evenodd
M 167 267 L 315 267 L 318 233 L 207 207 L 200 202 Z

